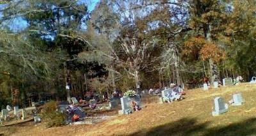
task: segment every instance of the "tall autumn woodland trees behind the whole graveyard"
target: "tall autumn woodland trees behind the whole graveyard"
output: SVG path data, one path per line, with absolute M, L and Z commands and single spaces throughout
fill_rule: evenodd
M 1 2 L 3 104 L 256 74 L 255 1 L 86 2 Z

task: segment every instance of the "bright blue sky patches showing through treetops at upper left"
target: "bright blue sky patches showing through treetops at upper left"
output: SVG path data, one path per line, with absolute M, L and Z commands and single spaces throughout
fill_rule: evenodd
M 91 12 L 94 10 L 95 6 L 97 3 L 99 3 L 100 0 L 79 0 L 79 4 L 86 4 L 88 6 L 88 11 Z M 1 17 L 1 15 L 0 15 Z M 11 27 L 12 31 L 20 31 L 22 29 L 26 29 L 28 27 L 28 23 L 23 20 L 21 17 L 17 17 L 12 22 L 7 22 L 10 24 L 9 26 Z

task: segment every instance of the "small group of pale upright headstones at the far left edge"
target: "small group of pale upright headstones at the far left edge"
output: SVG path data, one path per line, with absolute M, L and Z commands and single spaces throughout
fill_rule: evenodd
M 21 112 L 21 115 L 20 115 L 20 112 Z M 26 111 L 25 109 L 21 109 L 19 110 L 19 106 L 14 106 L 13 107 L 13 114 L 15 116 L 21 116 L 21 119 L 24 120 L 26 118 Z M 8 118 L 9 115 L 9 111 L 7 109 L 2 109 L 1 110 L 1 116 L 4 120 L 6 120 Z

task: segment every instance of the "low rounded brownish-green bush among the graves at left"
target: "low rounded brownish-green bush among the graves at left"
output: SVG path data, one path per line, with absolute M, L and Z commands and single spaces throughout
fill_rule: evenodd
M 42 117 L 48 127 L 65 125 L 66 115 L 57 111 L 57 102 L 50 101 L 44 105 Z

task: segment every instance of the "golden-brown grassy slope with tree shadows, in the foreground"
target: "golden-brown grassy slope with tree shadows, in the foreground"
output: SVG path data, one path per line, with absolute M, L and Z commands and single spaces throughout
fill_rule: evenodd
M 230 106 L 228 112 L 212 116 L 214 97 L 225 102 L 241 92 L 244 104 Z M 221 87 L 204 91 L 188 90 L 186 99 L 158 104 L 156 97 L 143 100 L 145 108 L 133 114 L 117 116 L 96 125 L 20 126 L 13 135 L 256 135 L 256 85 Z M 1 128 L 0 128 L 1 129 Z M 15 130 L 14 130 L 15 129 Z

